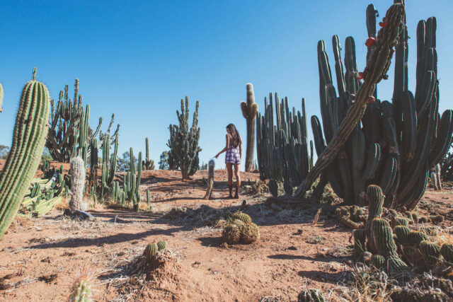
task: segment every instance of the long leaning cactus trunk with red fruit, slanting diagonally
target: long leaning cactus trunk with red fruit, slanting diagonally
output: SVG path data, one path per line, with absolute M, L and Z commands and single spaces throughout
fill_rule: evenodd
M 355 96 L 355 103 L 348 110 L 345 119 L 333 135 L 332 141 L 328 143 L 327 148 L 316 161 L 314 168 L 297 188 L 295 192 L 297 199 L 304 197 L 306 190 L 311 187 L 311 184 L 318 178 L 319 174 L 336 158 L 340 151 L 340 146 L 345 144 L 352 129 L 355 128 L 357 122 L 365 113 L 367 99 L 372 95 L 376 84 L 381 81 L 389 69 L 393 47 L 396 45 L 399 33 L 401 33 L 403 14 L 404 6 L 401 4 L 394 4 L 387 11 L 386 18 L 388 18 L 389 23 L 386 27 L 379 30 L 379 39 L 375 44 L 376 49 L 372 53 L 369 62 L 367 62 L 367 77 Z

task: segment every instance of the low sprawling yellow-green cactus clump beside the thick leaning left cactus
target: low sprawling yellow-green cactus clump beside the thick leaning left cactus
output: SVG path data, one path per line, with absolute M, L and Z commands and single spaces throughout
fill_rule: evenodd
M 30 190 L 25 193 L 18 215 L 42 216 L 47 214 L 55 204 L 62 201 L 63 193 L 69 190 L 69 176 L 63 176 L 63 165 L 58 170 L 50 169 L 44 164 L 47 178 L 35 179 L 30 185 Z M 52 174 L 49 171 L 53 171 Z

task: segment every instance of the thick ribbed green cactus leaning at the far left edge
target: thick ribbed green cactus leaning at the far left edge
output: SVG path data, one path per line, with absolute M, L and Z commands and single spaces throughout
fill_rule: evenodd
M 0 174 L 0 238 L 16 217 L 41 159 L 49 129 L 50 95 L 33 79 L 25 84 L 13 130 L 11 151 Z

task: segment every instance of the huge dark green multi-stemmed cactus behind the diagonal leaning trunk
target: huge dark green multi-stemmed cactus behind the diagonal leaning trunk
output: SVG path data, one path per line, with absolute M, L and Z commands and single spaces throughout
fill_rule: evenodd
M 392 7 L 402 6 L 395 4 Z M 343 146 L 336 144 L 336 153 L 327 155 L 324 151 L 326 143 L 329 146 L 337 143 L 340 124 L 343 126 L 349 122 L 347 115 L 352 115 L 360 90 L 362 87 L 366 88 L 371 79 L 370 68 L 374 64 L 373 58 L 383 47 L 379 42 L 384 40 L 386 34 L 384 30 L 392 23 L 390 16 L 386 16 L 389 25 L 382 28 L 376 36 L 376 14 L 374 6 L 370 4 L 367 8 L 369 59 L 363 73 L 357 72 L 355 42 L 352 37 L 348 37 L 345 42 L 345 71 L 340 58 L 338 37 L 336 35 L 333 37 L 338 97 L 333 87 L 324 42 L 319 42 L 321 117 L 324 135 L 317 117 L 311 117 L 311 127 L 319 158 L 321 160 L 324 156 L 330 158 L 331 164 L 328 167 L 324 166 L 331 187 L 338 197 L 343 198 L 348 204 L 365 204 L 365 188 L 367 185 L 376 184 L 382 187 L 386 195 L 386 207 L 404 206 L 413 209 L 425 192 L 430 168 L 434 168 L 447 152 L 453 133 L 453 111 L 446 110 L 442 117 L 438 113 L 435 18 L 420 21 L 418 24 L 415 97 L 408 91 L 407 83 L 406 15 L 400 16 L 401 9 L 398 8 L 395 16 L 391 18 L 401 20 L 403 17 L 402 23 L 398 25 L 398 28 L 402 25 L 403 30 L 398 37 L 398 43 L 395 45 L 394 41 L 389 44 L 396 46 L 393 103 L 386 100 L 381 102 L 374 91 L 373 95 L 369 95 L 366 110 L 365 105 L 362 108 L 365 114 L 361 122 L 356 119 L 358 123 L 351 124 L 350 127 L 354 127 L 350 138 L 343 139 Z M 398 28 L 392 31 L 392 37 L 396 37 Z M 389 62 L 386 63 L 386 69 L 388 65 Z M 359 81 L 362 78 L 365 80 L 364 83 Z

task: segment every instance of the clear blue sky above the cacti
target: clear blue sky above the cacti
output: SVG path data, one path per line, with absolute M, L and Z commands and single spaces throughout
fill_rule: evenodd
M 453 107 L 452 0 L 407 1 L 409 86 L 415 91 L 415 30 L 420 19 L 437 17 L 440 110 Z M 224 146 L 225 126 L 236 124 L 246 137 L 239 103 L 246 83 L 263 108 L 270 92 L 287 95 L 309 115 L 319 115 L 316 43 L 352 35 L 359 69 L 365 64 L 365 9 L 369 1 L 0 1 L 0 82 L 4 112 L 0 144 L 11 144 L 18 99 L 34 66 L 52 98 L 74 79 L 91 105 L 91 127 L 104 126 L 115 112 L 121 124 L 120 153 L 130 146 L 151 158 L 166 150 L 168 124 L 176 123 L 180 98 L 190 109 L 200 100 L 200 161 Z M 374 1 L 384 15 L 393 1 Z M 393 66 L 391 67 L 393 70 Z M 390 79 L 378 96 L 390 99 Z M 310 133 L 311 137 L 311 133 Z M 223 156 L 221 157 L 223 164 Z

